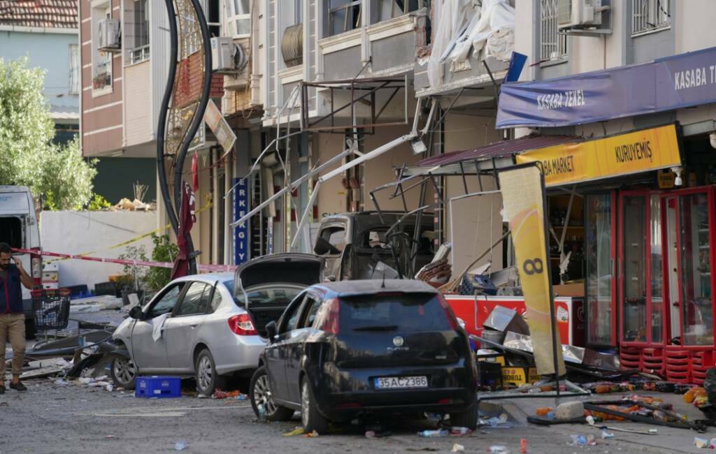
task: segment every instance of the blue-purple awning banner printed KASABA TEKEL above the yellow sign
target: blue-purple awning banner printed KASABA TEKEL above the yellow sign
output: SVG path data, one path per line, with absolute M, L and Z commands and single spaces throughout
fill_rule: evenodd
M 716 47 L 536 82 L 503 84 L 497 127 L 559 127 L 716 102 Z

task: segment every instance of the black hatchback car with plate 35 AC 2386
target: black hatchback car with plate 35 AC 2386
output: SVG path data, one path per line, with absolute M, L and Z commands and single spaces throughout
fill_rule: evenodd
M 313 285 L 266 325 L 251 379 L 260 418 L 307 432 L 359 415 L 448 413 L 475 428 L 477 369 L 468 335 L 435 289 L 412 280 Z

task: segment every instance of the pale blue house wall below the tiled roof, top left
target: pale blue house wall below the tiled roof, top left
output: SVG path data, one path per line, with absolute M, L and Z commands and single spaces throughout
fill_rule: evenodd
M 74 34 L 0 31 L 0 57 L 14 60 L 27 56 L 29 66 L 45 70 L 47 102 L 54 107 L 77 109 L 79 97 L 69 93 L 70 44 L 79 44 L 76 30 Z

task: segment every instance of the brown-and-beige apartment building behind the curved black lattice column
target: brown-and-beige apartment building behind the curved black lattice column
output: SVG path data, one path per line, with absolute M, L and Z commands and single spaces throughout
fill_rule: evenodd
M 221 35 L 220 2 L 203 2 L 211 34 Z M 100 164 L 117 169 L 112 181 L 124 180 L 131 188 L 137 174 L 151 169 L 156 182 L 156 132 L 160 104 L 169 68 L 168 13 L 165 4 L 149 0 L 79 0 L 79 36 L 82 62 L 80 98 L 82 153 L 99 157 Z M 187 73 L 190 76 L 190 71 Z M 193 80 L 185 81 L 187 87 Z M 221 104 L 223 77 L 212 79 L 211 97 Z M 224 262 L 223 219 L 230 202 L 212 200 L 213 188 L 224 182 L 221 153 L 211 132 L 200 128 L 193 142 L 199 157 L 200 186 L 196 192 L 199 222 L 193 230 L 195 246 L 202 250 L 200 262 Z M 192 159 L 184 177 L 191 178 Z M 231 164 L 229 164 L 231 165 Z M 130 195 L 130 194 L 127 194 Z M 125 196 L 126 197 L 126 196 Z M 161 197 L 154 190 L 148 201 L 158 202 L 158 226 L 168 223 Z

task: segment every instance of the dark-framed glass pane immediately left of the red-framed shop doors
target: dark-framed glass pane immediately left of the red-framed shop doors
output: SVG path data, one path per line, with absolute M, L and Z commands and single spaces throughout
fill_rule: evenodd
M 586 262 L 587 343 L 611 345 L 614 323 L 611 194 L 585 197 L 584 258 Z

